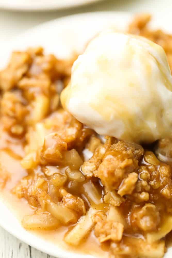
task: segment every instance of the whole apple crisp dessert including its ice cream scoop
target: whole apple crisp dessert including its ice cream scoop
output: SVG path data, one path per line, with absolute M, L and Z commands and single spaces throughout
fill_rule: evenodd
M 60 232 L 98 257 L 165 254 L 172 36 L 149 20 L 103 31 L 70 60 L 13 52 L 0 72 L 1 193 L 16 198 L 26 230 Z

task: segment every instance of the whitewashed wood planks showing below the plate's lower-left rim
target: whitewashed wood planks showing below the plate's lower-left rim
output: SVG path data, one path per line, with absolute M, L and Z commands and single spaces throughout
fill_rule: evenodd
M 0 258 L 55 258 L 21 242 L 0 227 Z

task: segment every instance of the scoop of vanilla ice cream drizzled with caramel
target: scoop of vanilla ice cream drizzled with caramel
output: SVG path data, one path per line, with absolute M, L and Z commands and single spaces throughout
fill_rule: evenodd
M 62 106 L 98 134 L 134 142 L 171 135 L 172 76 L 159 45 L 101 33 L 72 67 Z

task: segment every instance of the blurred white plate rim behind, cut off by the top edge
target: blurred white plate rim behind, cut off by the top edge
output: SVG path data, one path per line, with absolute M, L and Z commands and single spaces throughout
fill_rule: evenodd
M 101 0 L 0 0 L 0 9 L 50 11 L 91 4 Z

